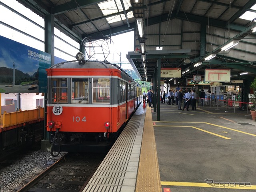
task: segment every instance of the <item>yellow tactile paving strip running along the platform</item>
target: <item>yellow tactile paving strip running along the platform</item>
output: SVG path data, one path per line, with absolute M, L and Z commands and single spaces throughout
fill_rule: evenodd
M 162 192 L 150 107 L 146 109 L 136 192 Z

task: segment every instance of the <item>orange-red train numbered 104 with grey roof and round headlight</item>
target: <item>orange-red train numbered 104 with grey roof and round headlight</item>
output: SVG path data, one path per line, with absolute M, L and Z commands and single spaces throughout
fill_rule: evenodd
M 118 66 L 76 58 L 46 70 L 53 156 L 106 150 L 141 103 L 141 86 Z

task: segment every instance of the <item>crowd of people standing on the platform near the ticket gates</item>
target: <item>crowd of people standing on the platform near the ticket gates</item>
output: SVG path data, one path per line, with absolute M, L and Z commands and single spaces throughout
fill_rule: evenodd
M 143 102 L 148 103 L 149 107 L 152 107 L 152 97 L 153 97 L 153 92 L 152 90 L 148 90 L 146 93 L 143 91 L 142 93 L 143 96 Z M 192 111 L 196 111 L 196 101 L 197 101 L 197 94 L 196 90 L 188 90 L 184 95 L 182 94 L 182 89 L 180 90 L 169 90 L 168 91 L 168 105 L 177 105 L 178 110 L 184 111 L 189 111 L 188 108 L 191 105 Z M 161 103 L 165 103 L 165 98 L 166 98 L 166 93 L 165 91 L 160 91 L 160 100 Z M 200 105 L 204 106 L 204 99 L 205 98 L 205 92 L 204 90 L 201 91 L 200 93 Z M 183 108 L 182 108 L 182 101 L 183 101 Z

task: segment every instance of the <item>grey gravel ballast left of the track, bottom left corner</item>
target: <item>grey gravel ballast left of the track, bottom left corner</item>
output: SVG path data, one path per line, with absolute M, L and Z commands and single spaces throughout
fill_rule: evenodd
M 56 159 L 50 152 L 37 150 L 22 155 L 6 167 L 0 167 L 0 192 L 15 192 L 14 188 L 24 186 L 26 179 L 42 172 L 46 169 L 44 166 L 52 161 Z

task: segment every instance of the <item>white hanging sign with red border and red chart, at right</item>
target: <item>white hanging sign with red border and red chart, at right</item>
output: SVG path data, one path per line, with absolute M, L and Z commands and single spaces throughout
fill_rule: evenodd
M 205 69 L 206 82 L 230 82 L 230 69 Z

